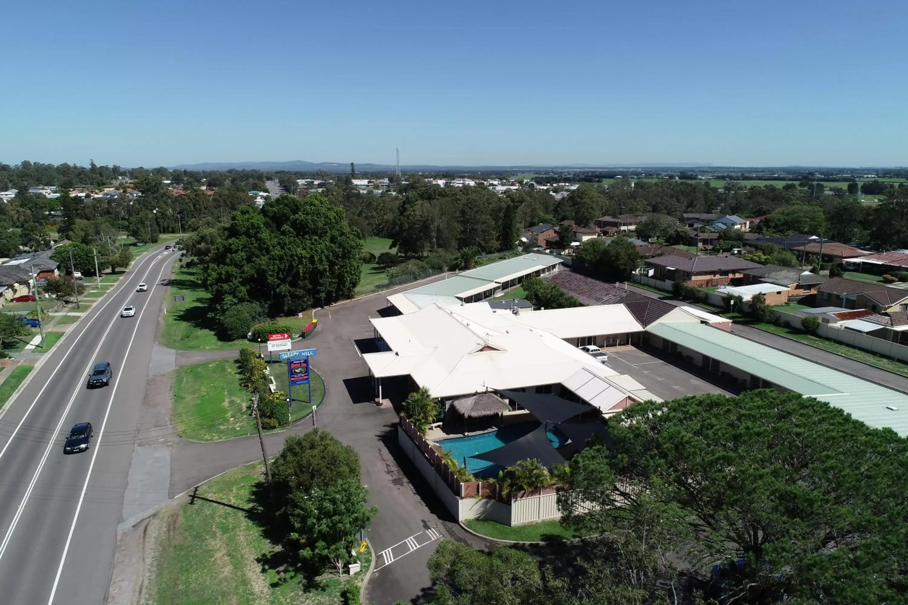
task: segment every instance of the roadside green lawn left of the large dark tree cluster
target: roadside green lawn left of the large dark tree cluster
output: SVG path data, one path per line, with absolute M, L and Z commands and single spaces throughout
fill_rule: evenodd
M 174 296 L 186 297 L 183 301 Z M 173 271 L 167 290 L 167 316 L 161 330 L 161 344 L 183 351 L 225 350 L 249 346 L 245 338 L 222 340 L 217 336 L 214 321 L 208 314 L 208 292 L 202 288 L 193 269 Z

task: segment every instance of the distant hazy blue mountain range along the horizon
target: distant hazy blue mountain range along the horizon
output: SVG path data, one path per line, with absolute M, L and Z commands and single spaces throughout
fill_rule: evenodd
M 401 166 L 401 171 L 406 172 L 438 172 L 438 171 L 569 171 L 593 170 L 609 168 L 710 168 L 713 164 L 696 162 L 666 162 L 666 163 L 641 163 L 641 164 L 565 164 L 565 165 L 514 165 L 514 166 L 434 166 L 430 164 Z M 350 162 L 336 161 L 208 161 L 200 164 L 180 164 L 172 166 L 171 170 L 180 171 L 288 171 L 288 172 L 347 172 L 350 171 Z M 392 164 L 356 164 L 357 171 L 393 171 Z

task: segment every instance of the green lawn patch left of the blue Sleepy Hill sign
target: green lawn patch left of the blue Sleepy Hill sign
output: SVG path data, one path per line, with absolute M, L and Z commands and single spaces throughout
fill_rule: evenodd
M 179 367 L 173 381 L 173 425 L 181 437 L 197 441 L 255 433 L 250 396 L 232 359 Z

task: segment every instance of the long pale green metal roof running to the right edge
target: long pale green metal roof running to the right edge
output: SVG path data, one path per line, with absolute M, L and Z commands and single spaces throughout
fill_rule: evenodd
M 908 436 L 908 395 L 698 322 L 657 322 L 646 331 L 834 405 L 864 424 Z

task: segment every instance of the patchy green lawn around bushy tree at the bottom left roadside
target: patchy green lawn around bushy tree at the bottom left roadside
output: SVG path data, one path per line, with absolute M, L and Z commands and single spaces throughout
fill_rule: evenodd
M 282 571 L 281 547 L 268 540 L 254 496 L 261 480 L 262 464 L 247 464 L 203 483 L 188 502 L 160 513 L 149 605 L 338 605 L 343 585 L 362 581 L 368 550 L 360 554 L 361 571 L 352 579 L 326 576 L 308 584 L 296 572 Z

